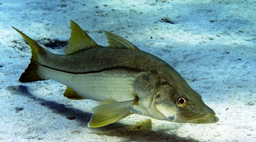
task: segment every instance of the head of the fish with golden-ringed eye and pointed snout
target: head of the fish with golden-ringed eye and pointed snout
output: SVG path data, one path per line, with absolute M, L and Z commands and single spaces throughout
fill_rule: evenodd
M 158 114 L 160 117 L 157 119 L 171 122 L 215 123 L 219 120 L 215 111 L 204 104 L 201 95 L 189 86 L 180 89 L 170 83 L 160 84 L 150 109 L 151 112 L 162 114 Z

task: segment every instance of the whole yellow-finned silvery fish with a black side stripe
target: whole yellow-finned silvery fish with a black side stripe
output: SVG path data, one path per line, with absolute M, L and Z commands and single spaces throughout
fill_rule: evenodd
M 70 23 L 64 55 L 49 52 L 13 27 L 32 54 L 21 83 L 52 79 L 67 86 L 64 96 L 69 99 L 100 102 L 92 108 L 91 128 L 130 114 L 179 123 L 218 122 L 215 111 L 171 65 L 111 32 L 104 31 L 109 45 L 100 46 L 77 23 Z

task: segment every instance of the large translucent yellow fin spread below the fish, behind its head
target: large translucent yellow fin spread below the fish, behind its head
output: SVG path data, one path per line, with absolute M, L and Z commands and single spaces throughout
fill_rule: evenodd
M 88 123 L 88 127 L 101 127 L 124 119 L 132 114 L 128 107 L 135 105 L 135 102 L 136 99 L 133 99 L 131 101 L 114 102 L 94 107 L 93 116 Z

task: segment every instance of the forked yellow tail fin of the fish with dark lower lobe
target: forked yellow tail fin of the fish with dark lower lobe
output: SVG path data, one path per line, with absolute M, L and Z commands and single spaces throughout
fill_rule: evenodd
M 20 32 L 18 29 L 14 28 L 17 32 L 19 32 L 20 35 L 26 40 L 26 42 L 29 44 L 31 48 L 32 57 L 30 59 L 30 64 L 28 65 L 28 68 L 26 68 L 25 72 L 20 75 L 19 81 L 22 83 L 32 82 L 32 81 L 39 81 L 44 80 L 37 74 L 37 68 L 38 68 L 38 60 L 37 60 L 37 53 L 40 50 L 40 52 L 44 51 L 46 52 L 43 47 L 39 46 L 34 40 Z

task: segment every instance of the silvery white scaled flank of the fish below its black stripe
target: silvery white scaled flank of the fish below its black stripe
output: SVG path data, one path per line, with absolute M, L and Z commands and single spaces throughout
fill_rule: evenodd
M 112 101 L 129 101 L 136 98 L 133 83 L 139 71 L 113 69 L 93 73 L 72 74 L 38 67 L 38 75 L 45 80 L 53 79 L 69 86 L 78 95 L 94 101 L 110 99 Z

